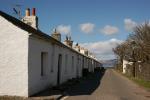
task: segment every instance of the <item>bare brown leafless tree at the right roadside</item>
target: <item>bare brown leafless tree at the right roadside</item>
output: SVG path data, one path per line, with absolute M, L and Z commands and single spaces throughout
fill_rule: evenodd
M 128 61 L 146 61 L 150 60 L 150 24 L 145 22 L 137 26 L 125 42 L 113 49 L 113 52 L 123 63 L 123 59 Z

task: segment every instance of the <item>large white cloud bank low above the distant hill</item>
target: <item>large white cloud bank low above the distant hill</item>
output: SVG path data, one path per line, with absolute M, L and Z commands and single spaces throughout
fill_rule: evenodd
M 122 40 L 110 39 L 107 41 L 82 43 L 81 46 L 88 48 L 90 51 L 95 53 L 96 57 L 99 58 L 100 60 L 108 60 L 115 58 L 112 49 L 122 42 L 123 42 Z

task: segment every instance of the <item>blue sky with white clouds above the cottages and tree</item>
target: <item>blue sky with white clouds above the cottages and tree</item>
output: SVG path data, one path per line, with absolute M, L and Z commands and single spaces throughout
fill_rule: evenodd
M 150 19 L 150 0 L 1 0 L 0 10 L 15 16 L 15 4 L 22 5 L 22 15 L 35 7 L 40 30 L 50 34 L 59 27 L 99 59 L 114 58 L 111 49 Z

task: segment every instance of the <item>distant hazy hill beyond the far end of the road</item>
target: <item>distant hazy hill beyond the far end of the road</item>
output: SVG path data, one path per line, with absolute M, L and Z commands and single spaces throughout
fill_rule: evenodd
M 117 63 L 117 59 L 102 60 L 100 62 L 103 64 L 103 67 L 114 67 L 114 65 Z

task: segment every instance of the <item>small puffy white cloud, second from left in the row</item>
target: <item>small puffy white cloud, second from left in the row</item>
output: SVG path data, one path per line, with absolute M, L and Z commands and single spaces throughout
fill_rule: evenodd
M 84 33 L 91 33 L 93 32 L 95 25 L 92 23 L 84 23 L 80 24 L 80 30 Z

